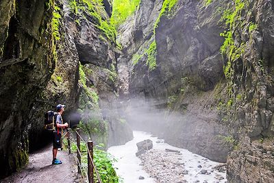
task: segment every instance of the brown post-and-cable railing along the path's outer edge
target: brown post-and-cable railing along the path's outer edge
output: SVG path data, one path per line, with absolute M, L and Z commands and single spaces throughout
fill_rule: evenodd
M 77 128 L 77 130 L 76 130 L 76 135 L 77 135 L 77 145 L 76 145 L 77 157 L 75 156 L 75 158 L 77 159 L 78 173 L 81 173 L 83 178 L 84 178 L 84 173 L 85 173 L 87 176 L 86 182 L 93 183 L 94 182 L 93 169 L 94 169 L 95 173 L 97 175 L 98 182 L 102 183 L 101 177 L 97 171 L 97 168 L 95 167 L 95 163 L 93 162 L 93 143 L 92 143 L 92 141 L 88 141 L 88 143 L 86 143 L 84 138 L 82 138 L 82 136 L 80 136 L 80 134 L 79 134 L 79 128 Z M 80 148 L 80 139 L 86 144 L 86 147 L 88 150 L 88 172 L 86 171 L 86 169 L 84 169 L 84 167 L 82 166 L 82 163 L 81 163 L 82 154 L 81 154 L 81 148 Z M 69 135 L 68 135 L 68 141 L 71 143 L 75 143 L 75 142 L 71 141 L 71 139 L 69 139 Z M 68 143 L 68 145 L 69 145 L 69 153 L 70 153 L 71 152 L 70 143 Z M 84 169 L 84 171 L 85 171 L 84 173 L 83 173 L 82 169 Z

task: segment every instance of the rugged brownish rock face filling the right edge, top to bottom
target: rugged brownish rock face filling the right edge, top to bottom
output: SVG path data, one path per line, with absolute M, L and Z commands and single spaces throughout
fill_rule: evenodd
M 238 148 L 227 160 L 230 182 L 274 181 L 269 152 L 274 136 L 273 7 L 273 1 L 246 1 L 242 16 L 234 20 L 242 27 L 232 26 L 234 45 L 242 51 L 234 60 L 227 56 L 232 63 L 228 73 L 234 101 L 227 124 L 239 139 Z

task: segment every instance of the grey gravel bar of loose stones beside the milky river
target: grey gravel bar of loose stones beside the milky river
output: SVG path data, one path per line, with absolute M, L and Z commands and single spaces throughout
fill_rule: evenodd
M 208 164 L 209 160 L 206 158 L 197 161 L 199 164 L 197 167 L 191 167 L 186 165 L 189 160 L 186 160 L 182 153 L 151 149 L 142 154 L 140 159 L 145 171 L 157 182 L 225 182 L 223 177 L 225 164 L 213 167 Z M 198 168 L 197 173 L 192 171 L 195 168 Z M 204 175 L 202 176 L 203 181 L 199 175 Z M 212 180 L 212 175 L 214 175 L 214 180 Z M 192 181 L 190 177 L 192 177 Z

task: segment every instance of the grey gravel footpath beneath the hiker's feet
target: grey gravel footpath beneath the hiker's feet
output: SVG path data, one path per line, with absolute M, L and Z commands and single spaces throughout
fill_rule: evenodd
M 51 164 L 52 145 L 29 154 L 29 164 L 0 182 L 75 182 L 77 166 L 72 155 L 58 151 L 62 164 Z

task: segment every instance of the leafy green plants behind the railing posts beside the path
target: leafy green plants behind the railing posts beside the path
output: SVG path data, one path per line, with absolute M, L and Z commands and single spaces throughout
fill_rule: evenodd
M 65 142 L 65 141 L 64 141 Z M 101 150 L 103 147 L 103 144 L 99 144 L 95 146 L 93 149 L 93 158 L 95 167 L 97 168 L 97 171 L 101 177 L 102 182 L 104 183 L 118 183 L 119 177 L 116 175 L 116 172 L 114 170 L 114 167 L 112 167 L 112 163 L 116 160 L 108 154 L 108 152 Z M 86 147 L 86 144 L 81 142 L 80 143 L 80 149 L 81 149 L 81 162 L 82 167 L 84 169 L 88 169 L 88 148 Z M 75 143 L 71 144 L 71 150 L 73 153 L 77 153 L 77 146 Z M 98 182 L 97 174 L 94 172 L 95 176 L 95 182 Z

